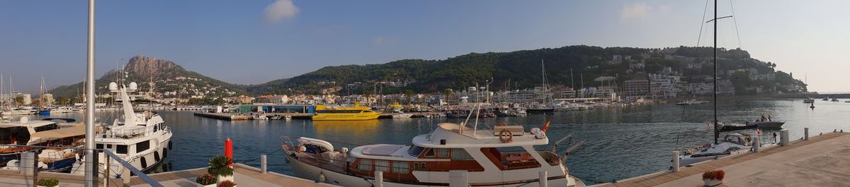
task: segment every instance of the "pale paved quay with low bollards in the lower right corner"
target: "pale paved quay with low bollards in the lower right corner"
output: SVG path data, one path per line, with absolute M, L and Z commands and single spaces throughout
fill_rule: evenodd
M 759 152 L 700 162 L 603 186 L 703 186 L 702 173 L 722 169 L 721 186 L 850 186 L 850 133 L 833 132 Z

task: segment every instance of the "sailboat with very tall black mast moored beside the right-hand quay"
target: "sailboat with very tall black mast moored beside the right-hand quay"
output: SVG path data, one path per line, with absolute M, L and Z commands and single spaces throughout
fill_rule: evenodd
M 717 19 L 717 0 L 715 0 L 714 19 L 711 19 L 714 22 L 714 143 L 696 146 L 684 151 L 683 156 L 679 157 L 679 164 L 683 166 L 748 152 L 752 147 L 753 137 L 751 135 L 728 134 L 722 140 L 718 140 L 720 138 L 720 124 L 717 123 Z

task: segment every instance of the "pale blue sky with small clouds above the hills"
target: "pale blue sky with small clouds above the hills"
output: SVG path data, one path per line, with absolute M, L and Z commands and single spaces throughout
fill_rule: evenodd
M 445 59 L 543 47 L 710 46 L 706 1 L 98 1 L 96 71 L 136 55 L 235 84 L 329 65 Z M 711 2 L 713 3 L 713 2 Z M 719 1 L 718 45 L 850 91 L 850 1 Z M 83 79 L 88 1 L 0 2 L 0 73 L 35 93 Z M 711 17 L 711 9 L 706 14 Z M 706 17 L 706 20 L 708 19 Z M 737 31 L 736 31 L 737 30 Z M 839 81 L 836 81 L 839 80 Z M 8 86 L 8 83 L 7 83 Z

